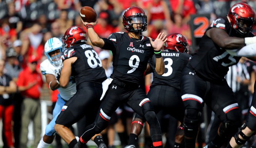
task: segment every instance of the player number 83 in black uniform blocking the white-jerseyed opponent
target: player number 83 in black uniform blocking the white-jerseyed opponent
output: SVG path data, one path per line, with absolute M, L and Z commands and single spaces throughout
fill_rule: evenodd
M 100 105 L 102 82 L 107 77 L 97 52 L 86 44 L 86 32 L 83 28 L 78 26 L 68 28 L 63 36 L 63 43 L 66 49 L 62 54 L 60 87 L 68 87 L 72 75 L 75 77 L 77 92 L 62 107 L 56 120 L 55 130 L 68 143 L 69 148 L 73 148 L 77 140 L 69 127 L 84 116 L 86 116 L 84 125 L 94 121 Z M 100 135 L 95 135 L 92 140 L 98 148 L 107 148 Z

